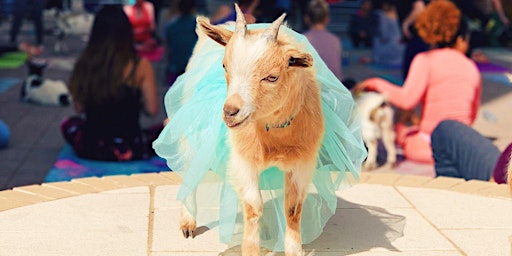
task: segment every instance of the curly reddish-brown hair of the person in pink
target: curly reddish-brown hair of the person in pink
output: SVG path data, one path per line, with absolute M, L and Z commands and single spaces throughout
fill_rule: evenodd
M 435 0 L 418 15 L 415 27 L 427 44 L 447 46 L 455 42 L 461 23 L 461 12 L 454 3 Z

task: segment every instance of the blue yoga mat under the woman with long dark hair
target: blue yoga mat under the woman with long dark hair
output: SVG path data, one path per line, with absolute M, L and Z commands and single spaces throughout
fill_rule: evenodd
M 84 177 L 130 175 L 162 171 L 169 171 L 169 167 L 167 167 L 167 163 L 163 158 L 157 156 L 145 161 L 103 162 L 85 160 L 76 156 L 71 146 L 66 144 L 44 181 L 70 181 L 71 179 Z

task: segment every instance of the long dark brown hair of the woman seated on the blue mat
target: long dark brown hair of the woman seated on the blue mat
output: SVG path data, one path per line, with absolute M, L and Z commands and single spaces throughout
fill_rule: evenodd
M 133 45 L 132 27 L 122 7 L 103 6 L 71 74 L 73 100 L 82 106 L 99 105 L 120 97 L 121 86 L 134 86 L 137 53 Z M 126 77 L 130 66 L 131 75 Z

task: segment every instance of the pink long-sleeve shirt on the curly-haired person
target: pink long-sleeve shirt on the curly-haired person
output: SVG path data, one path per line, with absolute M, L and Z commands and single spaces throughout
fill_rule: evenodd
M 475 63 L 452 48 L 423 52 L 413 59 L 402 87 L 371 78 L 369 88 L 405 110 L 422 103 L 419 130 L 431 134 L 445 119 L 471 125 L 480 105 L 482 77 Z

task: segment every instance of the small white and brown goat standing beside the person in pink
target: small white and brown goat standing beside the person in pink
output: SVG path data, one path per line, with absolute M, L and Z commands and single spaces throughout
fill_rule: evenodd
M 368 148 L 368 158 L 364 170 L 377 167 L 377 145 L 382 139 L 387 151 L 387 165 L 396 163 L 395 132 L 393 130 L 393 109 L 384 95 L 377 92 L 363 92 L 356 97 L 361 114 L 363 141 Z

